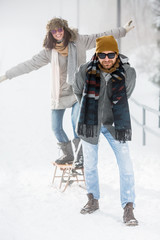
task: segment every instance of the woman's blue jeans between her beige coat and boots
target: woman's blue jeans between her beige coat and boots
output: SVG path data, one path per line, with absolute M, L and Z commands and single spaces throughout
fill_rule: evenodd
M 58 142 L 68 142 L 69 139 L 63 129 L 63 116 L 66 109 L 54 109 L 52 110 L 52 130 L 57 138 Z M 78 138 L 75 128 L 76 128 L 76 121 L 79 113 L 79 103 L 75 103 L 72 106 L 71 111 L 71 121 L 72 121 L 72 128 L 74 138 Z

